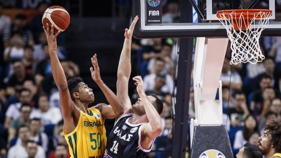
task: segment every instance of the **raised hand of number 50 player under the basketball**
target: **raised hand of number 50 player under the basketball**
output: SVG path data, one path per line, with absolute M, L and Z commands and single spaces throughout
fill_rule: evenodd
M 54 26 L 51 25 L 51 30 L 49 28 L 49 24 L 47 23 L 47 28 L 45 28 L 43 26 L 45 35 L 47 37 L 47 41 L 48 41 L 48 45 L 49 45 L 49 52 L 51 51 L 56 51 L 57 49 L 57 36 L 60 34 L 60 31 L 58 31 L 55 35 L 54 35 Z

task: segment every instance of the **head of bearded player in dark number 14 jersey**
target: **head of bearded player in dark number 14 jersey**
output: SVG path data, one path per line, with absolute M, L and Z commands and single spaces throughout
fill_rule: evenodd
M 152 103 L 158 114 L 160 115 L 163 111 L 163 103 L 160 101 L 160 99 L 155 95 L 151 94 L 150 96 L 147 96 L 149 101 Z M 133 113 L 142 116 L 145 115 L 145 109 L 143 106 L 143 102 L 141 101 L 141 98 L 138 99 L 138 101 L 132 106 Z

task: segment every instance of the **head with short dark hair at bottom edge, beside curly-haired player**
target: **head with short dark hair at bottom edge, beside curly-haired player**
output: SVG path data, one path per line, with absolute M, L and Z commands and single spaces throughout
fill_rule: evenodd
M 250 143 L 244 144 L 236 155 L 237 158 L 262 158 L 262 151 L 258 146 Z

